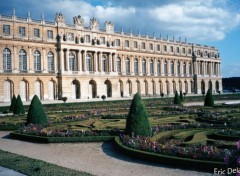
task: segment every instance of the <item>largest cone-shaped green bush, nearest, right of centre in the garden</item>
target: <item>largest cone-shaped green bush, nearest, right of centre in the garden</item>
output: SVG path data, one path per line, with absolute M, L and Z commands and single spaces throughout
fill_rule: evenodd
M 130 110 L 127 117 L 126 129 L 127 135 L 150 136 L 151 126 L 148 120 L 148 114 L 141 96 L 137 93 L 134 95 Z

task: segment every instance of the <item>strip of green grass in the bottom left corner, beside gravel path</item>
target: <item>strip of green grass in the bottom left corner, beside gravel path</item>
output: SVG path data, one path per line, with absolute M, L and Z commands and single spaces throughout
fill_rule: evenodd
M 91 176 L 91 174 L 85 172 L 64 168 L 3 150 L 0 150 L 0 166 L 31 176 Z

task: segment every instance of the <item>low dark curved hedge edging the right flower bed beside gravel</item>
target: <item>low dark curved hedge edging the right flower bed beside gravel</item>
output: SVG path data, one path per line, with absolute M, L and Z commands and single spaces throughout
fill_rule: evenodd
M 181 158 L 175 156 L 161 155 L 152 152 L 146 152 L 141 150 L 132 149 L 123 145 L 119 137 L 115 137 L 114 139 L 115 146 L 124 154 L 134 157 L 140 158 L 153 162 L 160 162 L 163 164 L 171 165 L 174 167 L 181 167 L 185 169 L 195 169 L 201 171 L 213 172 L 214 168 L 219 169 L 227 169 L 227 165 L 224 162 L 216 162 L 216 161 L 206 161 L 206 160 L 194 160 L 190 158 Z

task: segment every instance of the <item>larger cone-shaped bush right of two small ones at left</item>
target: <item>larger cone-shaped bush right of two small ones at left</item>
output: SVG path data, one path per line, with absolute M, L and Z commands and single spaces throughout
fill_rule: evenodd
M 41 101 L 37 95 L 34 95 L 28 109 L 27 123 L 32 124 L 47 124 L 47 115 Z

